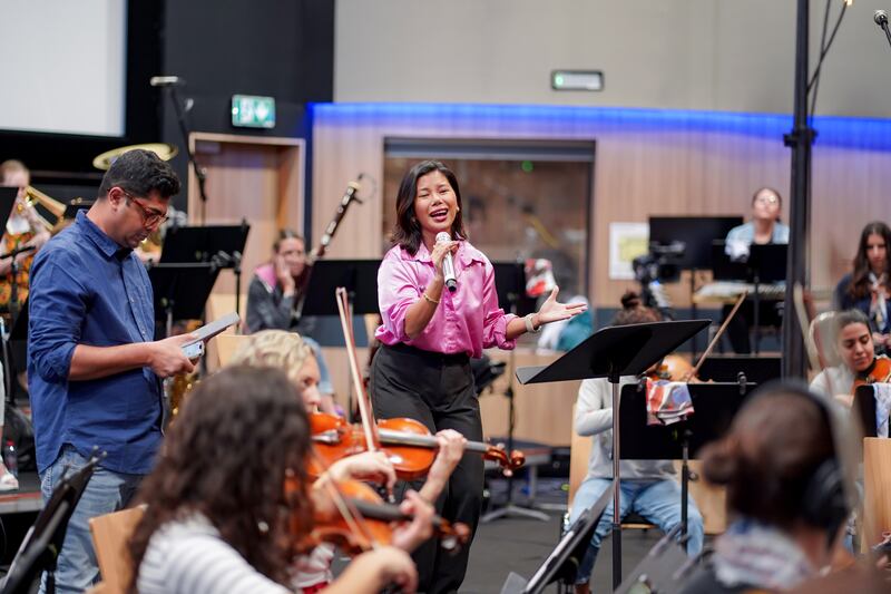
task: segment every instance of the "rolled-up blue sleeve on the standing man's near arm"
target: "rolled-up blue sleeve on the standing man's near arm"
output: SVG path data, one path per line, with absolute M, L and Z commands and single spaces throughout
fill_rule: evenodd
M 28 357 L 48 382 L 68 379 L 87 309 L 85 288 L 71 276 L 70 266 L 56 260 L 35 263 L 28 305 Z

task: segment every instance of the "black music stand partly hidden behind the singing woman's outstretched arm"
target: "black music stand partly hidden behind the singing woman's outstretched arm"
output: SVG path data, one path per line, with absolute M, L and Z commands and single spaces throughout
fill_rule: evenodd
M 498 304 L 508 313 L 523 317 L 536 312 L 536 299 L 526 294 L 526 267 L 522 262 L 493 262 L 495 290 Z M 513 431 L 517 426 L 516 399 L 513 393 L 513 370 L 517 369 L 516 349 L 508 353 L 508 387 L 505 397 L 508 399 L 508 442 L 507 450 L 513 451 Z M 528 470 L 527 470 L 528 471 Z M 492 522 L 508 516 L 523 516 L 546 522 L 548 515 L 538 509 L 530 509 L 513 503 L 513 473 L 508 476 L 507 499 L 501 507 L 493 509 L 480 518 L 480 523 Z

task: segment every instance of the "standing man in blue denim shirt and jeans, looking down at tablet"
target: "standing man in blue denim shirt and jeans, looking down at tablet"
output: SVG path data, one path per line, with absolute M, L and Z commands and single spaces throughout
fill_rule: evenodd
M 166 218 L 179 179 L 154 153 L 111 165 L 88 213 L 50 240 L 31 269 L 28 383 L 46 503 L 66 468 L 107 457 L 68 524 L 59 592 L 98 577 L 88 520 L 126 506 L 160 442 L 160 378 L 193 371 L 182 345 L 154 341 L 151 284 L 133 253 Z M 41 591 L 43 586 L 41 585 Z

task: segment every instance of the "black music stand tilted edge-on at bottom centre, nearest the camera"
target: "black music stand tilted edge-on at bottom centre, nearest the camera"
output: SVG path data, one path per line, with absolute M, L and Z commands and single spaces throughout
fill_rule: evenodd
M 614 489 L 616 489 L 615 480 L 593 506 L 576 518 L 576 522 L 562 535 L 548 558 L 536 569 L 528 582 L 511 572 L 501 587 L 501 594 L 539 594 L 558 580 L 568 586 L 575 584 L 581 559 L 588 552 L 594 532 L 597 529 L 600 516 L 609 505 Z

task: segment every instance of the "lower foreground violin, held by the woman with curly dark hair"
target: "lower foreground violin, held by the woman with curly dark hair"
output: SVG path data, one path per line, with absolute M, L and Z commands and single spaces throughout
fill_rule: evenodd
M 375 546 L 392 544 L 393 523 L 414 519 L 399 506 L 383 503 L 374 489 L 364 483 L 344 480 L 331 486 L 333 493 L 337 494 L 333 497 L 334 509 L 315 510 L 313 529 L 298 544 L 301 551 L 331 543 L 344 553 L 355 555 Z M 431 523 L 446 551 L 457 552 L 470 539 L 470 528 L 466 524 L 450 524 L 440 516 L 433 516 Z

